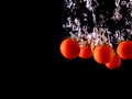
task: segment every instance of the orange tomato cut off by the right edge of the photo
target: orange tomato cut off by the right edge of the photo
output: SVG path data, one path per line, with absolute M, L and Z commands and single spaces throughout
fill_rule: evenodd
M 122 59 L 132 59 L 132 42 L 121 42 L 117 47 L 117 53 Z

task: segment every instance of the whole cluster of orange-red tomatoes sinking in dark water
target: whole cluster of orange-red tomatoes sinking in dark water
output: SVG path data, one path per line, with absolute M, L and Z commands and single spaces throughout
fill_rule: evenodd
M 116 69 L 121 66 L 122 59 L 132 59 L 132 41 L 123 41 L 114 51 L 109 44 L 97 45 L 91 48 L 92 43 L 81 46 L 74 38 L 66 38 L 61 43 L 59 50 L 62 55 L 67 59 L 76 57 L 94 59 L 99 64 L 105 64 L 109 69 Z

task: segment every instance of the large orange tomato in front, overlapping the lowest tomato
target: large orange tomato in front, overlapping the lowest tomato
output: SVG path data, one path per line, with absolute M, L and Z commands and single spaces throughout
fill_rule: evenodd
M 109 63 L 113 56 L 114 52 L 110 45 L 98 45 L 94 51 L 94 58 L 99 64 Z

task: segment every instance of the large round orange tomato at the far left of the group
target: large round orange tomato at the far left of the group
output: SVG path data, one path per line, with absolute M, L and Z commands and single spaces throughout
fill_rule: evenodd
M 62 55 L 67 59 L 74 59 L 79 55 L 79 44 L 73 38 L 66 38 L 59 46 Z

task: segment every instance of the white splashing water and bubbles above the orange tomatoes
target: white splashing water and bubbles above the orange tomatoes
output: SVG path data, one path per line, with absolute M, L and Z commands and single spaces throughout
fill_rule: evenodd
M 113 11 L 106 9 L 98 11 L 106 2 L 65 0 L 68 16 L 63 28 L 68 29 L 70 37 L 80 46 L 91 42 L 95 46 L 103 43 L 113 46 L 132 36 L 132 0 L 114 0 Z

